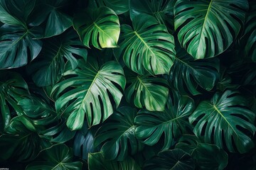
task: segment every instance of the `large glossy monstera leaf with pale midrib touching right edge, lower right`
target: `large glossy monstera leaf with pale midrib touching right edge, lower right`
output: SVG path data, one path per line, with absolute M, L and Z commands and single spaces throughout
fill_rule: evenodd
M 234 91 L 216 93 L 211 101 L 199 103 L 189 117 L 189 122 L 195 125 L 193 132 L 204 142 L 213 141 L 230 152 L 249 151 L 254 147 L 255 113 L 245 108 L 245 103 L 245 98 Z

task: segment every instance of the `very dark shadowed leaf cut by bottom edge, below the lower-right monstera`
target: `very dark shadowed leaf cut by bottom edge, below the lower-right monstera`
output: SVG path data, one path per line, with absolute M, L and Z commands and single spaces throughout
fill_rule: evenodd
M 195 160 L 196 169 L 224 169 L 228 164 L 228 154 L 216 145 L 201 143 L 196 136 L 183 135 L 175 148 L 187 152 Z

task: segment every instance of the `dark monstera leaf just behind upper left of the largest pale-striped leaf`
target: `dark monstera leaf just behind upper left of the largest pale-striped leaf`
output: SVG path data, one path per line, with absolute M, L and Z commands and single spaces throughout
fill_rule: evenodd
M 70 61 L 72 68 L 78 65 L 75 56 L 87 58 L 87 50 L 83 47 L 78 36 L 68 31 L 58 37 L 44 41 L 43 50 L 39 57 L 28 67 L 37 86 L 55 85 L 64 72 L 65 59 Z

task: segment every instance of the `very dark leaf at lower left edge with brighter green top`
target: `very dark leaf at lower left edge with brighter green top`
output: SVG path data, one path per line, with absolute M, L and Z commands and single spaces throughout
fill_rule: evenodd
M 0 136 L 0 159 L 29 161 L 50 146 L 48 137 L 38 135 L 36 126 L 25 115 L 13 118 L 5 131 L 7 134 Z

